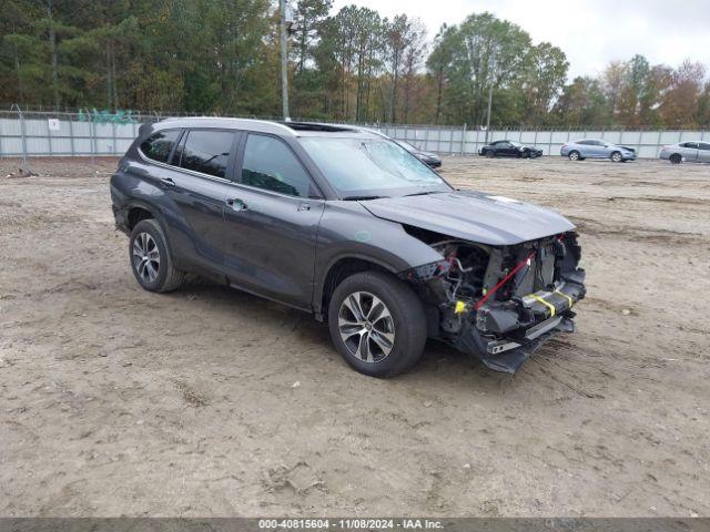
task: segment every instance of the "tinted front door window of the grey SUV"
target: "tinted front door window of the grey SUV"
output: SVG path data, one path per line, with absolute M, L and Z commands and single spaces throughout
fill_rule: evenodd
M 288 146 L 264 135 L 246 139 L 241 183 L 292 196 L 315 194 L 311 177 Z

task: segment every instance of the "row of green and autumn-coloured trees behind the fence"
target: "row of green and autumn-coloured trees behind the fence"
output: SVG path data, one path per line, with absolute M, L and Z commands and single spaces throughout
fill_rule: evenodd
M 407 14 L 293 1 L 291 114 L 386 123 L 699 127 L 706 65 L 613 61 L 567 80 L 565 52 L 474 13 L 427 35 Z M 0 102 L 278 116 L 273 0 L 4 0 Z

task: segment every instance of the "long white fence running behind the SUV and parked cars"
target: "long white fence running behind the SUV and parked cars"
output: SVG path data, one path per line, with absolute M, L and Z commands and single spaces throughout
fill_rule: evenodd
M 142 122 L 160 116 L 130 113 L 20 113 L 0 111 L 0 157 L 122 155 L 138 135 Z M 557 155 L 576 139 L 605 139 L 636 149 L 640 157 L 657 157 L 661 146 L 682 141 L 710 140 L 709 131 L 489 131 L 462 127 L 372 124 L 386 135 L 443 154 L 474 154 L 494 140 L 534 145 L 545 155 Z

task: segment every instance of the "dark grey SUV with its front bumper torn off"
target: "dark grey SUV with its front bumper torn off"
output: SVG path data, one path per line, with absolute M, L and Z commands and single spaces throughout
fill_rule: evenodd
M 138 283 L 199 274 L 312 313 L 363 374 L 412 367 L 427 337 L 514 372 L 574 329 L 575 227 L 458 191 L 378 133 L 172 119 L 141 126 L 111 177 Z

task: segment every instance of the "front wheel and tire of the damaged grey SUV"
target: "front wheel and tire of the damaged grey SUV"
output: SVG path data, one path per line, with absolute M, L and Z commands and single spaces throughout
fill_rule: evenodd
M 328 305 L 331 338 L 345 361 L 371 377 L 393 377 L 424 352 L 422 301 L 404 282 L 382 272 L 343 280 Z

